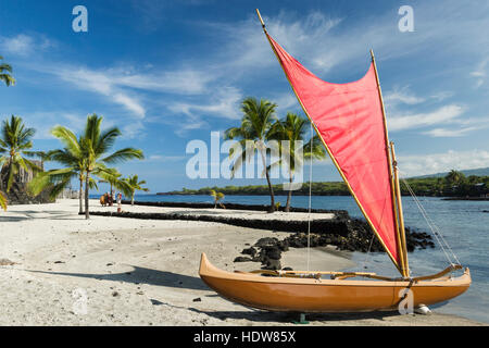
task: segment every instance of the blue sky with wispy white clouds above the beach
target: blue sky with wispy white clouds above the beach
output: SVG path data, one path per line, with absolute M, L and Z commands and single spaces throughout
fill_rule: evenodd
M 152 192 L 263 179 L 189 179 L 189 140 L 239 123 L 248 96 L 302 112 L 258 22 L 325 80 L 366 72 L 374 49 L 389 136 L 405 176 L 489 166 L 489 3 L 482 1 L 7 1 L 0 0 L 0 55 L 17 84 L 0 89 L 0 116 L 37 129 L 35 147 L 59 148 L 55 124 L 83 128 L 104 116 L 146 160 L 120 165 Z M 72 10 L 88 10 L 88 33 Z M 414 32 L 401 33 L 401 5 Z M 223 154 L 223 158 L 225 156 Z M 339 179 L 330 161 L 315 181 Z M 280 183 L 280 181 L 276 181 Z

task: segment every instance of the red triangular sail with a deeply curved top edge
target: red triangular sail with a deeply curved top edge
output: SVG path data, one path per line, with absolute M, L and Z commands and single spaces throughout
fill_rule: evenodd
M 330 84 L 269 42 L 305 113 L 396 265 L 400 265 L 386 129 L 374 63 L 354 83 Z

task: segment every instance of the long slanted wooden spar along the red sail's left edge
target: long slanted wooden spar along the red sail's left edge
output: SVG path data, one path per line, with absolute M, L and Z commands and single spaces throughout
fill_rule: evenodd
M 356 195 L 355 195 L 354 190 L 352 189 L 352 187 L 351 187 L 349 181 L 347 179 L 347 177 L 346 177 L 343 171 L 341 170 L 340 165 L 338 164 L 336 158 L 333 156 L 333 153 L 331 153 L 329 147 L 327 146 L 327 144 L 325 142 L 325 140 L 324 140 L 323 137 L 321 136 L 321 133 L 319 133 L 319 130 L 317 129 L 317 126 L 315 125 L 315 123 L 313 122 L 311 115 L 309 114 L 308 110 L 305 109 L 304 104 L 302 103 L 302 100 L 299 98 L 299 95 L 298 95 L 296 88 L 293 87 L 293 85 L 292 85 L 292 83 L 291 83 L 289 76 L 288 76 L 287 73 L 286 73 L 285 66 L 284 66 L 283 62 L 280 61 L 280 59 L 279 59 L 279 57 L 278 57 L 278 53 L 277 53 L 277 51 L 276 51 L 274 45 L 272 44 L 272 40 L 271 40 L 271 38 L 269 38 L 269 36 L 268 36 L 268 33 L 267 33 L 266 27 L 265 27 L 265 23 L 263 22 L 263 18 L 262 18 L 262 16 L 261 16 L 261 14 L 260 14 L 259 9 L 256 9 L 256 14 L 258 14 L 258 16 L 259 16 L 259 18 L 260 18 L 260 23 L 262 24 L 262 28 L 263 28 L 263 32 L 264 32 L 264 34 L 265 34 L 267 40 L 268 40 L 268 44 L 271 45 L 272 50 L 273 50 L 273 52 L 275 53 L 275 55 L 276 55 L 276 58 L 277 58 L 277 60 L 278 60 L 280 66 L 283 67 L 284 73 L 285 73 L 285 75 L 286 75 L 286 77 L 287 77 L 287 80 L 289 82 L 290 87 L 292 88 L 293 94 L 296 95 L 296 97 L 297 97 L 297 99 L 298 99 L 298 101 L 299 101 L 299 103 L 300 103 L 302 110 L 304 111 L 304 113 L 305 113 L 305 115 L 309 117 L 309 120 L 311 121 L 311 124 L 314 126 L 314 130 L 315 130 L 316 134 L 319 136 L 319 139 L 322 140 L 324 147 L 326 148 L 326 151 L 328 152 L 328 154 L 329 154 L 329 157 L 330 157 L 333 163 L 335 164 L 336 169 L 338 170 L 339 174 L 341 175 L 341 178 L 343 179 L 344 184 L 347 185 L 348 189 L 350 190 L 351 195 L 353 196 L 353 198 L 354 198 L 356 204 L 359 206 L 360 210 L 362 211 L 363 215 L 365 216 L 365 220 L 367 221 L 368 225 L 372 227 L 372 229 L 374 231 L 375 235 L 378 237 L 378 240 L 379 240 L 380 244 L 383 245 L 384 249 L 386 250 L 387 254 L 388 254 L 389 258 L 391 259 L 392 263 L 396 265 L 396 268 L 399 270 L 399 272 L 400 272 L 401 274 L 403 274 L 403 271 L 402 271 L 403 268 L 401 266 L 400 262 L 398 263 L 398 261 L 394 259 L 394 257 L 392 256 L 392 253 L 389 251 L 389 248 L 386 246 L 386 244 L 385 244 L 385 241 L 383 240 L 383 238 L 380 238 L 379 233 L 377 232 L 377 229 L 376 229 L 374 223 L 372 222 L 372 220 L 371 220 L 371 217 L 368 216 L 368 214 L 365 212 L 365 209 L 363 208 L 362 203 L 360 202 L 359 198 L 356 197 Z M 383 108 L 384 108 L 384 104 L 383 104 Z M 389 159 L 390 159 L 390 157 L 389 157 Z M 390 167 L 390 165 L 389 165 L 389 167 Z M 392 176 L 390 176 L 390 177 L 392 178 Z M 393 215 L 397 216 L 396 212 L 394 212 Z M 396 224 L 397 224 L 397 217 L 394 217 L 394 220 L 396 220 Z M 397 225 L 396 225 L 396 226 L 397 226 Z M 397 233 L 397 235 L 398 235 L 398 233 Z M 399 235 L 398 235 L 398 238 L 399 238 Z M 400 244 L 399 239 L 398 239 L 398 243 L 397 243 L 397 244 L 398 244 L 398 246 L 399 246 L 399 244 Z M 399 250 L 398 250 L 398 252 L 399 252 Z M 401 260 L 403 260 L 403 258 L 400 258 L 400 261 L 401 261 Z

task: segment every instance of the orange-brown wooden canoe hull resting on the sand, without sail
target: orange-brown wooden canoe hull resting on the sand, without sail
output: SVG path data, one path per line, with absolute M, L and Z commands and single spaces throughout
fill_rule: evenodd
M 455 278 L 410 282 L 265 277 L 231 273 L 212 265 L 204 253 L 202 281 L 224 298 L 252 308 L 291 312 L 360 312 L 397 310 L 406 288 L 413 306 L 447 301 L 467 290 L 471 274 L 465 269 Z

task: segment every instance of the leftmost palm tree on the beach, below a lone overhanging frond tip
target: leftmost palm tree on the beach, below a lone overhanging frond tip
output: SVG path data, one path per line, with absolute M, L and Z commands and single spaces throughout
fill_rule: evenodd
M 41 169 L 26 157 L 42 156 L 41 152 L 29 151 L 33 147 L 32 138 L 36 129 L 26 128 L 22 117 L 14 116 L 3 121 L 0 134 L 0 165 L 2 166 L 1 185 L 7 185 L 10 191 L 15 174 L 22 167 L 26 172 L 39 172 Z

